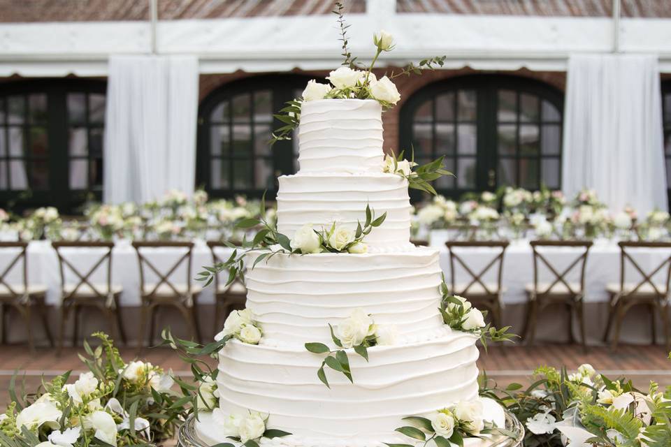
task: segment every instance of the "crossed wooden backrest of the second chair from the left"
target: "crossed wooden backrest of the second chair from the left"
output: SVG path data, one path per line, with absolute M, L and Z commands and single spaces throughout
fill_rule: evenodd
M 93 293 L 97 298 L 103 300 L 110 300 L 110 293 L 112 293 L 112 249 L 114 242 L 103 241 L 54 241 L 51 243 L 56 250 L 58 256 L 59 273 L 61 276 L 61 292 L 63 299 L 72 298 L 77 295 L 77 292 L 86 291 L 86 293 Z M 101 257 L 95 263 L 87 263 L 85 270 L 75 265 L 73 257 L 68 258 L 69 255 L 77 251 L 100 249 Z M 104 267 L 104 290 L 96 288 L 91 277 L 99 268 Z M 66 271 L 72 272 L 77 277 L 73 288 L 68 287 L 66 281 Z

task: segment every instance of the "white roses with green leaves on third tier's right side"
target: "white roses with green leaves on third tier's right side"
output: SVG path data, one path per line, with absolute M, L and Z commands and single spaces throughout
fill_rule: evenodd
M 477 335 L 485 350 L 487 349 L 488 342 L 512 342 L 515 337 L 519 337 L 519 335 L 508 332 L 510 326 L 496 329 L 491 323 L 484 324 L 484 317 L 487 312 L 475 309 L 466 299 L 450 293 L 447 284 L 445 284 L 445 277 L 443 277 L 440 284 L 440 294 L 442 298 L 438 310 L 440 310 L 443 322 L 454 330 L 461 330 L 462 332 L 470 332 Z M 482 314 L 481 324 L 474 327 L 467 325 L 467 321 L 472 317 L 471 312 Z

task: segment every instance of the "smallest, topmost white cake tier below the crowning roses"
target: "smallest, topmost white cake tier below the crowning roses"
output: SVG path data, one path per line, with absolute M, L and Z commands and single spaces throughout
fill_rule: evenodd
M 301 173 L 380 172 L 382 107 L 372 99 L 323 99 L 301 105 Z

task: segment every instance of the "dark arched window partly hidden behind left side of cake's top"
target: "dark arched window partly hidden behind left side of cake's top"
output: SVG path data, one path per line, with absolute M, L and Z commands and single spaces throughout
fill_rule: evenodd
M 296 140 L 268 145 L 282 123 L 273 114 L 301 96 L 309 77 L 263 75 L 213 91 L 199 110 L 196 182 L 210 195 L 273 198 L 277 176 L 296 172 Z

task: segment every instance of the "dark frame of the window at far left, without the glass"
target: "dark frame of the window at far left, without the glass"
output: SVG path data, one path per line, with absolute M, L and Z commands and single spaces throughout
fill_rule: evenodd
M 107 82 L 106 80 L 97 79 L 80 79 L 80 78 L 64 78 L 64 79 L 35 79 L 35 80 L 10 80 L 0 83 L 0 102 L 4 101 L 5 112 L 7 112 L 8 105 L 6 98 L 10 96 L 27 96 L 31 94 L 45 94 L 47 97 L 47 112 L 43 126 L 46 129 L 48 153 L 43 158 L 48 170 L 48 182 L 45 189 L 30 189 L 31 188 L 31 166 L 27 168 L 27 182 L 28 189 L 10 190 L 9 177 L 8 188 L 0 189 L 0 206 L 11 208 L 17 212 L 26 209 L 41 207 L 41 206 L 55 206 L 63 213 L 76 212 L 78 207 L 84 204 L 87 200 L 101 200 L 102 189 L 92 189 L 90 185 L 90 168 L 87 165 L 87 178 L 89 179 L 89 186 L 87 189 L 73 190 L 70 188 L 70 152 L 69 152 L 69 124 L 68 124 L 68 107 L 67 96 L 73 93 L 84 93 L 88 100 L 89 94 L 106 94 Z M 87 101 L 88 112 L 88 101 Z M 29 134 L 30 125 L 27 122 L 27 108 L 24 109 L 24 135 Z M 87 113 L 88 115 L 88 113 Z M 88 119 L 88 116 L 86 117 Z M 104 130 L 104 120 L 102 124 L 96 125 L 98 128 Z M 87 135 L 90 127 L 86 126 Z M 0 138 L 7 138 L 6 153 L 9 152 L 9 132 L 0 133 Z M 88 144 L 87 136 L 87 144 Z M 20 159 L 31 160 L 27 163 L 34 163 L 31 154 L 27 154 L 27 147 L 29 142 L 24 138 L 24 156 Z M 88 156 L 90 158 L 90 155 Z M 7 157 L 0 157 L 6 159 Z M 9 176 L 9 173 L 7 174 Z

